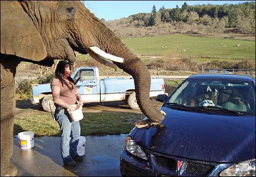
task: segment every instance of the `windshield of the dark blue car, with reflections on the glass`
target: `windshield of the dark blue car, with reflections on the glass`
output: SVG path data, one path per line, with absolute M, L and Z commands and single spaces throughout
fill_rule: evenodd
M 231 110 L 255 115 L 255 87 L 239 80 L 187 79 L 170 95 L 169 105 Z

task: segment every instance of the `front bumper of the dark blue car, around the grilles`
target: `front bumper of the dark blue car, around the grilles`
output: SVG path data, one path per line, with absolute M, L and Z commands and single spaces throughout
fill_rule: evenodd
M 177 168 L 178 165 L 176 165 L 175 169 L 168 169 L 156 162 L 155 155 L 155 153 L 154 155 L 151 154 L 150 161 L 146 162 L 123 150 L 120 157 L 120 171 L 122 176 L 218 176 L 223 169 L 233 165 L 233 163 L 205 163 L 202 161 L 200 162 L 172 157 L 177 162 L 182 161 L 181 166 L 179 169 Z M 207 174 L 199 175 L 195 173 L 188 173 L 185 169 L 188 162 L 195 164 L 210 164 L 214 166 L 214 168 Z

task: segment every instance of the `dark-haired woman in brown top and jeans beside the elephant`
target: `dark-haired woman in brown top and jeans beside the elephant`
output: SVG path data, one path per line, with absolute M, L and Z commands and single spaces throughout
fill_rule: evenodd
M 61 131 L 61 157 L 64 165 L 74 166 L 75 161 L 82 161 L 82 156 L 77 154 L 77 144 L 80 137 L 79 121 L 72 121 L 67 109 L 73 111 L 72 105 L 77 103 L 82 106 L 82 98 L 70 77 L 71 65 L 68 61 L 59 61 L 55 70 L 55 78 L 51 83 L 53 102 L 56 106 L 55 118 Z M 71 137 L 70 137 L 71 135 Z

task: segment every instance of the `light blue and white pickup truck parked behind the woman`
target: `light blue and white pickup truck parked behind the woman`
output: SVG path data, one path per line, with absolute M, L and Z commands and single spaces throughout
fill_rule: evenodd
M 79 67 L 71 74 L 71 77 L 74 81 L 80 77 L 76 86 L 83 103 L 123 100 L 132 109 L 139 109 L 132 77 L 130 79 L 104 78 L 100 80 L 97 67 Z M 165 85 L 162 78 L 151 79 L 150 97 L 156 97 L 158 94 L 163 94 L 164 91 Z M 52 111 L 55 110 L 50 83 L 34 85 L 30 102 L 33 105 L 42 103 L 42 108 L 48 112 L 51 111 L 50 106 Z

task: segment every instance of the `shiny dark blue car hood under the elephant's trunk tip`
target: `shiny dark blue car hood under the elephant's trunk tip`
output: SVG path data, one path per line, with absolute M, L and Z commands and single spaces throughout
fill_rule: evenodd
M 230 116 L 174 110 L 164 128 L 134 129 L 140 146 L 170 156 L 202 161 L 241 162 L 255 158 L 255 116 Z

